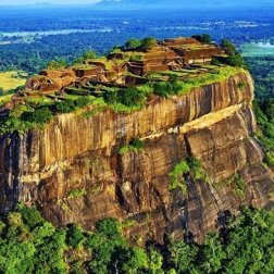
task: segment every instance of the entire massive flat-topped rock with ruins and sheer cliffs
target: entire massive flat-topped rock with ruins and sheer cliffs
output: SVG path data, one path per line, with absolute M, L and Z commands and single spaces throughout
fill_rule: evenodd
M 0 110 L 0 212 L 21 201 L 85 229 L 115 217 L 162 242 L 273 207 L 253 82 L 228 59 L 195 38 L 132 39 L 30 77 Z

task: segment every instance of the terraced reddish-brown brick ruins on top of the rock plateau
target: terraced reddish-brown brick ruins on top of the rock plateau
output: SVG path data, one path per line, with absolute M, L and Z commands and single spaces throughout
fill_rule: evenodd
M 58 100 L 64 94 L 96 96 L 110 87 L 137 86 L 151 79 L 169 80 L 171 72 L 180 72 L 182 80 L 189 75 L 199 77 L 208 72 L 204 64 L 209 64 L 213 58 L 225 58 L 222 48 L 195 38 L 164 39 L 148 50 L 116 48 L 107 57 L 88 59 L 83 64 L 41 71 L 39 75 L 27 79 L 25 88 L 16 92 L 1 108 L 1 112 L 24 103 L 29 97 L 55 97 Z

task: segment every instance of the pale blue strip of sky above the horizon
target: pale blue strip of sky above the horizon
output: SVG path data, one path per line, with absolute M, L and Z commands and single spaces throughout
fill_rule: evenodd
M 88 4 L 99 2 L 99 0 L 0 0 L 0 5 L 3 4 L 34 4 L 38 2 L 51 2 L 55 4 Z

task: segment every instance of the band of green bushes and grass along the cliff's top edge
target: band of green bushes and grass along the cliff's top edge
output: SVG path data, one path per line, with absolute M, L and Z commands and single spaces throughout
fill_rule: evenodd
M 102 97 L 98 98 L 79 95 L 74 96 L 73 99 L 71 98 L 72 96 L 66 96 L 64 100 L 50 101 L 45 100 L 45 97 L 38 97 L 35 100 L 28 101 L 29 105 L 27 105 L 30 109 L 25 109 L 21 115 L 14 116 L 11 112 L 9 116 L 2 119 L 0 123 L 0 133 L 18 132 L 23 134 L 35 127 L 42 128 L 55 114 L 71 113 L 89 104 L 97 105 L 98 100 L 100 100 L 100 105 L 103 105 L 103 108 L 96 108 L 91 112 L 84 113 L 83 116 L 92 116 L 107 108 L 112 109 L 116 113 L 132 113 L 141 110 L 148 97 L 153 94 L 164 98 L 174 95 L 186 95 L 190 92 L 192 88 L 226 80 L 239 72 L 244 72 L 244 70 L 232 66 L 216 67 L 212 73 L 202 74 L 198 77 L 188 77 L 184 82 L 180 80 L 178 76 L 172 75 L 169 82 L 151 82 L 141 86 L 123 89 L 109 88 Z M 42 114 L 45 114 L 45 117 Z

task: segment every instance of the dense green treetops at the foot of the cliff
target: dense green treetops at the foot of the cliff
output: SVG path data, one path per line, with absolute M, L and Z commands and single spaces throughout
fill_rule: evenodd
M 202 245 L 170 235 L 164 245 L 144 248 L 129 244 L 126 224 L 114 219 L 92 233 L 75 224 L 54 228 L 21 204 L 0 221 L 0 273 L 273 273 L 274 212 L 242 209 L 219 221 Z

